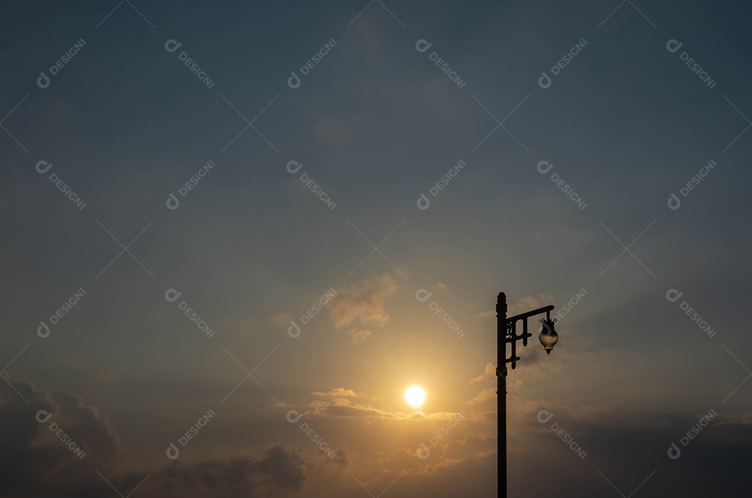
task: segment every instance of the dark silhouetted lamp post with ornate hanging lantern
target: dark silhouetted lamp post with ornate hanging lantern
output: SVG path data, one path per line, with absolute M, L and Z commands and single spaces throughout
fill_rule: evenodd
M 522 340 L 523 346 L 527 346 L 527 338 L 532 337 L 527 331 L 527 319 L 531 316 L 546 314 L 546 318 L 541 318 L 543 329 L 538 335 L 546 353 L 550 355 L 559 335 L 553 330 L 553 324 L 556 318 L 551 320 L 551 310 L 553 306 L 544 306 L 533 309 L 532 311 L 520 313 L 507 317 L 507 295 L 499 292 L 496 300 L 496 347 L 497 362 L 496 377 L 499 379 L 499 386 L 504 391 L 496 391 L 498 399 L 498 418 L 499 418 L 499 497 L 507 496 L 507 364 L 511 363 L 512 370 L 517 366 L 517 341 Z M 522 321 L 522 334 L 517 334 L 517 321 Z M 507 344 L 511 344 L 511 355 L 507 358 Z M 503 379 L 503 382 L 502 382 Z

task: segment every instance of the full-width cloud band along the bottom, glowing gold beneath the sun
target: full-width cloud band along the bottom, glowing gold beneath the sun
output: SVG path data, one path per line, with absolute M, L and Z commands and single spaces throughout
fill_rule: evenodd
M 117 468 L 123 460 L 119 437 L 105 415 L 87 406 L 75 394 L 47 392 L 17 379 L 9 379 L 9 382 L 29 400 L 29 404 L 11 389 L 0 390 L 0 444 L 3 448 L 0 464 L 4 469 L 0 473 L 0 489 L 3 498 L 116 496 L 96 470 L 102 472 L 123 495 L 145 479 L 138 487 L 138 496 L 143 498 L 350 496 L 350 490 L 358 489 L 355 485 L 359 485 L 354 484 L 347 472 L 350 470 L 369 489 L 384 489 L 405 471 L 399 487 L 393 491 L 395 496 L 414 496 L 424 490 L 430 491 L 431 496 L 450 498 L 456 494 L 448 492 L 447 485 L 453 481 L 461 481 L 463 486 L 472 485 L 465 484 L 468 475 L 473 477 L 469 481 L 475 482 L 481 478 L 477 467 L 487 464 L 490 470 L 482 475 L 487 476 L 487 483 L 493 487 L 496 439 L 493 432 L 473 425 L 480 420 L 468 416 L 467 421 L 463 419 L 461 425 L 451 428 L 447 437 L 431 445 L 430 439 L 438 437 L 437 429 L 458 414 L 387 412 L 362 403 L 367 399 L 364 394 L 344 387 L 314 391 L 316 398 L 308 414 L 348 417 L 353 421 L 363 421 L 365 427 L 375 427 L 375 420 L 410 423 L 416 429 L 411 433 L 422 430 L 423 436 L 408 448 L 389 449 L 374 457 L 364 458 L 357 451 L 350 453 L 338 448 L 335 458 L 329 459 L 317 449 L 315 458 L 305 460 L 300 449 L 271 445 L 259 454 L 220 454 L 196 462 L 174 460 L 159 466 L 153 474 L 150 474 L 151 469 L 123 473 Z M 551 479 L 541 484 L 542 491 L 559 496 L 563 493 L 556 494 L 558 485 L 563 486 L 567 494 L 580 487 L 578 496 L 602 496 L 608 484 L 599 481 L 594 471 L 588 471 L 590 477 L 578 481 L 578 476 L 583 475 L 583 460 L 552 429 L 551 424 L 556 422 L 556 428 L 566 431 L 587 453 L 585 464 L 597 461 L 609 478 L 611 475 L 621 478 L 619 472 L 624 468 L 636 469 L 636 472 L 644 469 L 644 476 L 659 469 L 656 477 L 645 484 L 646 490 L 652 494 L 675 490 L 676 496 L 693 496 L 693 489 L 711 493 L 716 486 L 723 491 L 716 496 L 747 496 L 738 491 L 747 490 L 749 486 L 744 481 L 744 475 L 747 475 L 744 472 L 750 465 L 748 448 L 752 444 L 752 413 L 724 413 L 715 406 L 718 413 L 711 423 L 687 445 L 679 442 L 710 408 L 646 413 L 607 405 L 580 406 L 544 400 L 526 403 L 513 397 L 508 424 L 511 433 L 519 436 L 510 439 L 509 450 L 514 452 L 515 461 L 520 466 L 534 466 L 539 463 L 541 454 L 557 462 L 547 470 Z M 537 417 L 540 409 L 547 409 L 553 418 L 541 423 Z M 71 439 L 80 442 L 86 450 L 83 460 L 77 459 L 47 430 L 45 424 L 37 421 L 39 410 L 52 414 L 49 421 L 56 421 Z M 489 413 L 493 415 L 493 412 Z M 489 416 L 482 424 L 493 422 L 495 419 Z M 335 420 L 332 424 L 341 426 L 342 422 Z M 425 460 L 417 454 L 420 442 L 430 446 L 430 455 Z M 666 451 L 672 442 L 681 447 L 681 460 L 669 459 Z M 708 460 L 708 454 L 713 455 L 711 460 Z M 471 473 L 471 469 L 475 469 L 475 473 Z M 668 474 L 666 470 L 669 470 Z M 706 480 L 697 481 L 699 474 L 711 478 L 708 481 L 711 484 L 704 484 Z M 663 475 L 670 475 L 670 478 Z M 330 492 L 326 494 L 328 490 Z

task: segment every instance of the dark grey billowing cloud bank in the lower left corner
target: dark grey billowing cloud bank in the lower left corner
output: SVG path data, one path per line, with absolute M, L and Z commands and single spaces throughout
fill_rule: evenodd
M 108 481 L 124 494 L 143 481 L 138 496 L 145 498 L 267 496 L 303 487 L 305 460 L 301 452 L 279 445 L 260 458 L 240 455 L 198 463 L 175 460 L 151 474 L 118 474 L 124 451 L 108 417 L 75 394 L 50 393 L 18 379 L 8 382 L 20 395 L 11 389 L 0 391 L 2 498 L 117 496 Z M 62 429 L 75 443 L 73 448 L 68 446 L 73 443 L 66 445 L 50 427 Z M 80 448 L 78 454 L 76 448 Z M 338 459 L 344 460 L 344 453 Z

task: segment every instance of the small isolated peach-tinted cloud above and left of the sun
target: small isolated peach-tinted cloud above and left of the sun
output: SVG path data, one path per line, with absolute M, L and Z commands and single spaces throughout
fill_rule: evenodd
M 396 290 L 397 286 L 388 274 L 362 279 L 350 287 L 337 291 L 338 297 L 329 309 L 329 318 L 338 329 L 351 324 L 384 327 L 384 324 L 389 321 L 386 301 Z M 370 335 L 362 334 L 365 331 L 367 330 L 356 333 L 352 337 L 353 340 L 358 339 L 358 342 L 365 340 Z

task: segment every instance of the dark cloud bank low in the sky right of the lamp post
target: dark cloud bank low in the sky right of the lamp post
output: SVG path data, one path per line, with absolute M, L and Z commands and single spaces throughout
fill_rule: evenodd
M 724 414 L 716 408 L 717 415 L 699 427 L 692 439 L 687 437 L 684 445 L 681 439 L 708 415 L 711 407 L 628 415 L 626 409 L 575 412 L 548 406 L 553 417 L 541 423 L 536 416 L 541 408 L 538 404 L 531 403 L 520 418 L 524 427 L 514 429 L 529 434 L 525 448 L 537 448 L 535 454 L 521 448 L 516 437 L 509 439 L 510 453 L 517 454 L 514 467 L 536 465 L 541 455 L 555 462 L 546 466 L 547 479 L 530 484 L 527 492 L 533 496 L 553 493 L 588 498 L 615 493 L 599 472 L 629 496 L 653 471 L 635 496 L 750 496 L 752 492 L 748 478 L 752 424 L 747 415 Z M 583 415 L 587 413 L 590 415 Z M 554 423 L 556 430 L 563 430 L 578 448 L 587 452 L 584 458 L 551 428 Z M 675 459 L 668 453 L 672 443 L 681 449 Z

